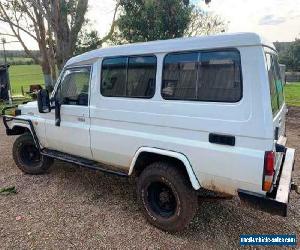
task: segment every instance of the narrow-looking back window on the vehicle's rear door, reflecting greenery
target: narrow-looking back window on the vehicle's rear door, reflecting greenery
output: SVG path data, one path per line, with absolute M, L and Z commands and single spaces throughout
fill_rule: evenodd
M 273 116 L 277 114 L 284 103 L 283 79 L 276 54 L 266 52 L 267 70 L 270 84 L 270 96 Z

